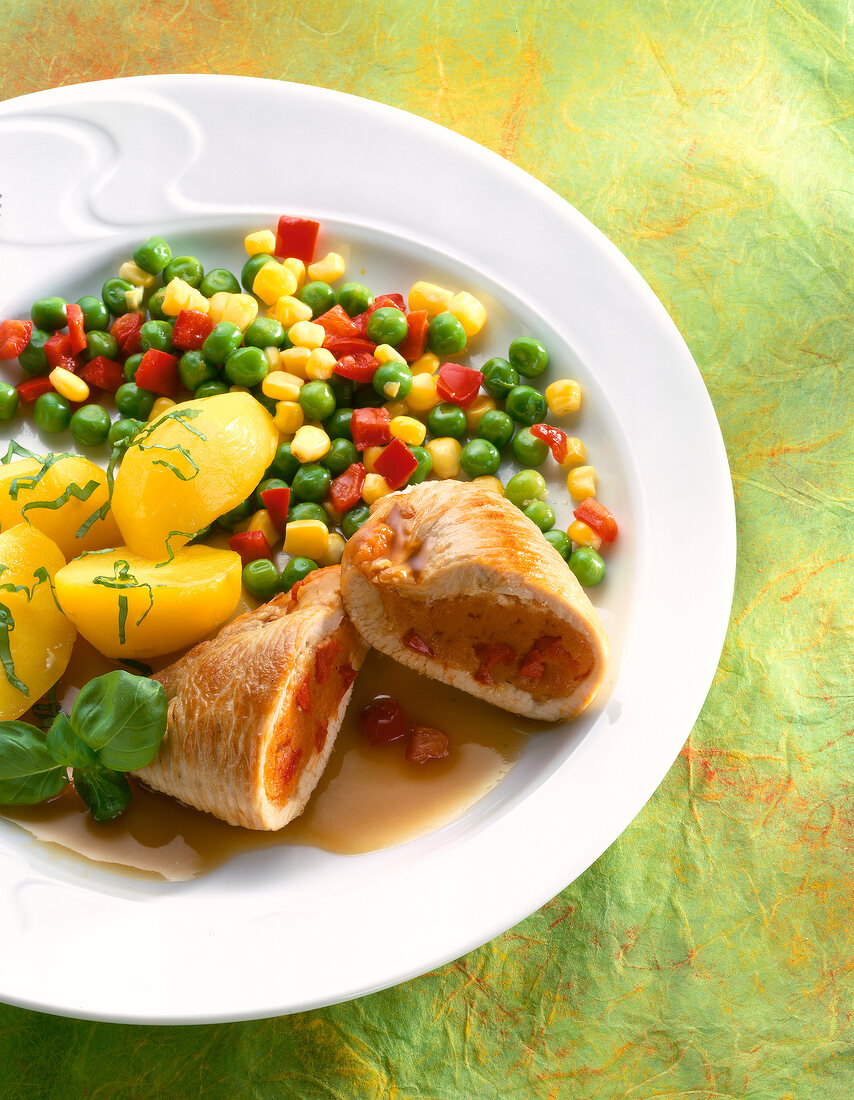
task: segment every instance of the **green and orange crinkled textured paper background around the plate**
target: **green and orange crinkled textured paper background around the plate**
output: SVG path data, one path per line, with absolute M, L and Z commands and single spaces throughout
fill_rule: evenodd
M 738 516 L 730 634 L 659 791 L 506 935 L 397 989 L 259 1023 L 0 1007 L 0 1097 L 851 1097 L 854 11 L 230 9 L 8 0 L 0 98 L 144 73 L 277 77 L 414 111 L 544 180 L 640 271 L 702 371 Z

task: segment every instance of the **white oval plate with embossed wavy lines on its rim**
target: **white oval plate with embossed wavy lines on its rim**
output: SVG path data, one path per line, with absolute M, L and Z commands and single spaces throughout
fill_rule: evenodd
M 90 293 L 150 232 L 237 263 L 242 232 L 310 213 L 377 290 L 445 276 L 492 299 L 491 354 L 522 329 L 540 334 L 556 371 L 584 385 L 579 435 L 621 520 L 610 578 L 593 590 L 616 682 L 598 710 L 534 738 L 461 820 L 365 856 L 256 851 L 180 884 L 64 859 L 0 822 L 0 998 L 116 1021 L 256 1019 L 382 989 L 504 932 L 649 799 L 723 644 L 735 566 L 726 455 L 667 314 L 541 184 L 433 123 L 337 92 L 206 76 L 79 85 L 0 105 L 0 316 Z

